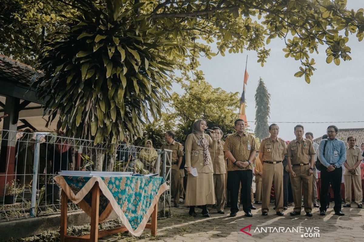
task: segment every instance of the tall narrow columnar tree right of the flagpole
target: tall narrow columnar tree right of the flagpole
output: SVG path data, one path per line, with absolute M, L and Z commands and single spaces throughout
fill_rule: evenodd
M 270 94 L 262 80 L 259 78 L 258 87 L 255 93 L 255 136 L 264 139 L 269 136 L 268 118 L 270 114 Z

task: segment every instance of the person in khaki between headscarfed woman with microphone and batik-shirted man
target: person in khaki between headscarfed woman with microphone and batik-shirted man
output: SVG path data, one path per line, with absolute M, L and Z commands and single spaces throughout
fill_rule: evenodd
M 224 214 L 225 192 L 226 192 L 226 165 L 224 159 L 223 147 L 225 142 L 221 140 L 222 131 L 218 127 L 212 128 L 210 132 L 213 141 L 213 148 L 209 148 L 212 165 L 214 169 L 214 187 L 216 196 L 217 213 Z

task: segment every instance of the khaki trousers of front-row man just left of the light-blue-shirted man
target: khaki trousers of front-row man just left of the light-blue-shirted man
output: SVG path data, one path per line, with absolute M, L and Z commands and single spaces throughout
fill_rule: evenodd
M 294 211 L 301 213 L 302 205 L 302 186 L 303 186 L 303 203 L 305 205 L 305 212 L 312 212 L 312 176 L 307 175 L 309 165 L 292 166 L 296 176 L 293 177 L 289 174 L 292 185 Z

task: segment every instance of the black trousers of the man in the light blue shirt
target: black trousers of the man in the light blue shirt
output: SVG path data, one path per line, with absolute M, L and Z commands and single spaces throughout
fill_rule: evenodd
M 341 211 L 341 176 L 343 175 L 343 168 L 336 168 L 332 172 L 326 171 L 326 167 L 321 171 L 321 189 L 320 189 L 320 211 L 326 211 L 329 202 L 327 192 L 331 184 L 334 192 L 335 212 Z

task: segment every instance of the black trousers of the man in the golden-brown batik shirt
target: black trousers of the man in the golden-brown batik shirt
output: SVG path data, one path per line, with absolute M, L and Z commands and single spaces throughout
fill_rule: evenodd
M 245 213 L 250 212 L 252 201 L 250 199 L 250 187 L 253 181 L 253 171 L 228 171 L 227 172 L 227 186 L 230 190 L 230 211 L 236 213 L 239 211 L 238 196 L 241 184 L 241 203 Z

